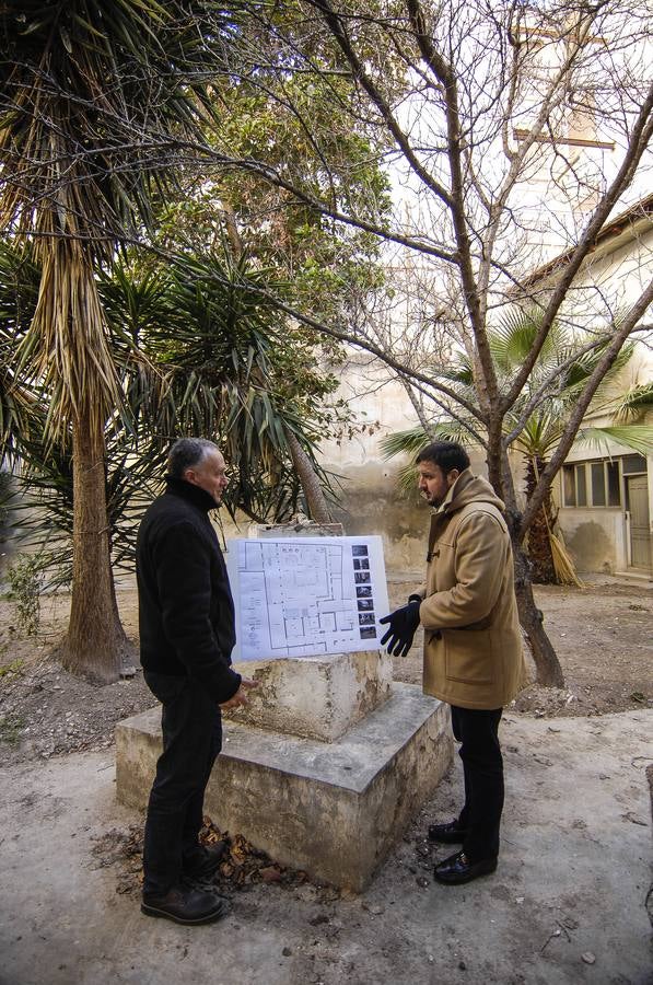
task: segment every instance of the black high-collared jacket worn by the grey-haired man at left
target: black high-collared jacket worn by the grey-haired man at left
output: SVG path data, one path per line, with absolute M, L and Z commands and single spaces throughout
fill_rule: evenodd
M 231 668 L 234 605 L 226 567 L 199 486 L 166 476 L 148 508 L 136 547 L 141 663 L 161 674 L 188 675 L 218 703 L 241 686 Z

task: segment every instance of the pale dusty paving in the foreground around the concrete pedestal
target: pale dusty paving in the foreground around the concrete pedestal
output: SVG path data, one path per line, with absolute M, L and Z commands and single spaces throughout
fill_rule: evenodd
M 207 927 L 140 913 L 143 822 L 116 800 L 114 750 L 0 765 L 0 985 L 653 985 L 652 729 L 644 708 L 508 712 L 492 877 L 433 880 L 453 763 L 364 893 L 247 867 Z

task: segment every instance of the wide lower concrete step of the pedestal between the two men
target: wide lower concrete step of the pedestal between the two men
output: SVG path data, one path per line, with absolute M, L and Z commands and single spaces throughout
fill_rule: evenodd
M 160 709 L 116 729 L 118 799 L 144 808 Z M 282 865 L 361 892 L 435 790 L 453 752 L 448 706 L 409 684 L 337 742 L 230 722 L 205 801 L 223 831 Z

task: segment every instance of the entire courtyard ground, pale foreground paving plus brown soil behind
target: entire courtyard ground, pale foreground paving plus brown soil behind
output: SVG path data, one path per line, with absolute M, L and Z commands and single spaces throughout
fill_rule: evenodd
M 390 580 L 390 604 L 413 587 Z M 360 896 L 236 835 L 220 873 L 232 914 L 207 928 L 140 914 L 142 816 L 116 801 L 110 746 L 152 705 L 142 675 L 95 687 L 61 670 L 67 598 L 44 600 L 31 639 L 2 603 L 0 985 L 653 985 L 653 588 L 536 598 L 567 687 L 529 688 L 504 715 L 498 872 L 432 879 L 448 846 L 424 833 L 460 802 L 454 763 Z M 120 592 L 130 636 L 135 601 Z M 395 674 L 417 683 L 420 663 L 416 640 Z

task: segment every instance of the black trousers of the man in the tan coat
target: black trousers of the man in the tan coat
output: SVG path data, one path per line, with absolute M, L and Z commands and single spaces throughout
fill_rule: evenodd
M 458 755 L 465 776 L 465 807 L 458 823 L 467 835 L 463 850 L 476 862 L 499 855 L 503 810 L 503 757 L 499 722 L 503 708 L 491 711 L 452 705 L 452 728 L 460 743 Z

